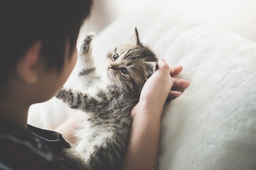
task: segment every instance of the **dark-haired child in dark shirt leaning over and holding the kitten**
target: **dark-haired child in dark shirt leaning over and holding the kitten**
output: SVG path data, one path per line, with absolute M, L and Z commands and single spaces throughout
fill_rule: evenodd
M 48 3 L 50 2 L 50 3 Z M 0 7 L 0 169 L 72 169 L 61 158 L 70 147 L 61 134 L 27 125 L 31 104 L 45 102 L 63 86 L 77 59 L 76 39 L 91 0 L 7 0 Z M 187 80 L 171 78 L 182 67 L 159 61 L 131 110 L 130 139 L 122 169 L 157 169 L 160 118 L 167 96 Z M 60 113 L 61 114 L 61 113 Z M 59 131 L 70 137 L 75 119 Z

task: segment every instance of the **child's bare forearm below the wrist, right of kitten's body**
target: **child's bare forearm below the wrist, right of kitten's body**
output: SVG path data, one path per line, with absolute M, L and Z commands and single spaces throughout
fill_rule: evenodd
M 161 114 L 153 110 L 142 112 L 145 114 L 133 119 L 122 170 L 157 170 L 160 134 L 160 117 L 157 115 Z

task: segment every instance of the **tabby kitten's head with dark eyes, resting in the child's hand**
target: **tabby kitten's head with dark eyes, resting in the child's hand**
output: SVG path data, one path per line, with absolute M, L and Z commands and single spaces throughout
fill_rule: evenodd
M 107 54 L 105 76 L 111 85 L 140 94 L 146 80 L 157 70 L 157 62 L 157 56 L 140 43 L 135 28 L 128 43 Z

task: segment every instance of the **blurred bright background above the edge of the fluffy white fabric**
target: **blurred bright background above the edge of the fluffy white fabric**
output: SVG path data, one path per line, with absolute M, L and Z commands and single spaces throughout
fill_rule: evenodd
M 113 20 L 128 15 L 150 0 L 94 0 L 90 18 L 81 32 L 99 33 Z M 158 0 L 185 15 L 237 33 L 256 43 L 256 0 Z M 81 36 L 79 38 L 82 38 Z M 78 40 L 79 41 L 79 40 Z

